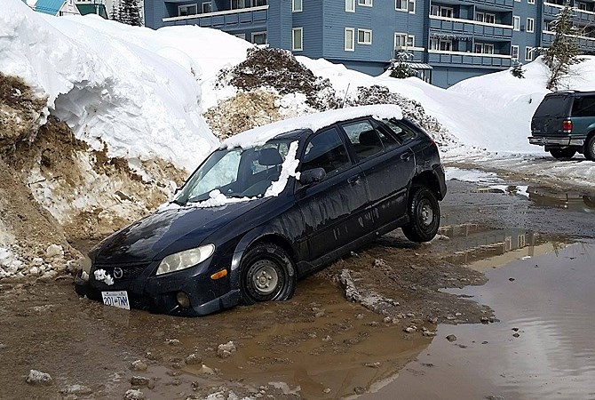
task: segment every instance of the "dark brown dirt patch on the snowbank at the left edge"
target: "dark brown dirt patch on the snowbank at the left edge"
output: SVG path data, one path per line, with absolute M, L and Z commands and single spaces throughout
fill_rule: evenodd
M 0 72 L 0 154 L 12 151 L 20 140 L 33 139 L 45 105 L 46 99 L 22 79 Z

